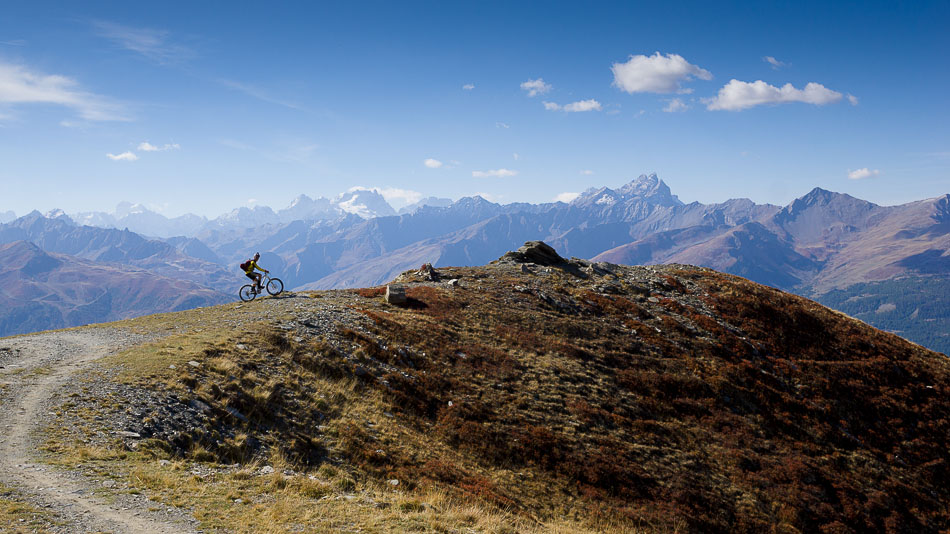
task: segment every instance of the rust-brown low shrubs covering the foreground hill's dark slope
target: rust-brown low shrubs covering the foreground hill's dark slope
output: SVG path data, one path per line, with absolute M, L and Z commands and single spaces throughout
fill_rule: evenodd
M 375 288 L 287 312 L 361 318 L 332 332 L 258 324 L 185 351 L 202 365 L 164 384 L 226 422 L 191 450 L 271 451 L 539 525 L 950 528 L 945 357 L 706 269 L 446 271 L 465 283 L 410 283 L 411 306 Z

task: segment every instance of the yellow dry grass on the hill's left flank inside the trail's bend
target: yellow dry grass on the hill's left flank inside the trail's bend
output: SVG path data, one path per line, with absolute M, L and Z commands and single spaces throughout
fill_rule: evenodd
M 185 321 L 174 318 L 178 325 L 190 322 L 187 317 Z M 167 317 L 146 319 L 136 322 L 148 323 L 141 328 L 167 328 Z M 121 370 L 116 376 L 120 381 L 151 388 L 160 384 L 165 391 L 201 399 L 215 409 L 236 407 L 249 420 L 242 432 L 219 447 L 195 442 L 180 455 L 151 447 L 130 452 L 118 441 L 78 445 L 75 435 L 51 434 L 54 437 L 45 447 L 52 453 L 50 461 L 63 466 L 81 464 L 92 473 L 117 478 L 128 484 L 129 491 L 194 510 L 204 528 L 229 532 L 604 531 L 604 525 L 584 527 L 579 519 L 539 520 L 506 511 L 490 500 L 472 501 L 466 497 L 470 494 L 431 480 L 420 484 L 403 478 L 394 488 L 387 482 L 398 476 L 386 467 L 390 458 L 397 463 L 408 458 L 418 462 L 453 456 L 459 462 L 466 459 L 444 443 L 428 443 L 424 432 L 397 420 L 386 396 L 349 374 L 345 362 L 319 340 L 295 344 L 259 324 L 244 331 L 208 328 L 203 319 L 194 324 L 202 325 L 200 331 L 179 333 L 176 328 L 166 337 L 104 362 Z M 200 366 L 193 367 L 189 361 Z M 288 392 L 295 402 L 287 402 Z M 97 416 L 120 405 L 114 399 L 100 399 L 102 411 L 77 411 L 71 404 L 61 406 L 60 413 L 71 410 L 85 421 L 77 428 L 89 435 L 94 433 Z M 301 444 L 300 432 L 288 426 L 273 432 L 268 441 L 256 427 L 277 413 L 283 420 L 302 419 L 306 424 L 301 426 L 311 429 L 318 425 L 307 421 L 306 414 L 321 414 L 325 419 L 319 421 L 319 443 Z M 76 430 L 72 429 L 73 434 Z M 261 438 L 268 448 L 254 455 L 235 454 L 248 434 Z M 324 451 L 315 462 L 306 460 L 308 445 Z M 332 461 L 337 455 L 348 461 Z M 238 467 L 224 467 L 235 460 L 240 462 Z M 265 465 L 274 472 L 261 475 Z M 212 474 L 197 476 L 192 473 L 195 466 Z M 285 469 L 292 474 L 284 475 Z M 608 529 L 640 532 L 629 525 Z

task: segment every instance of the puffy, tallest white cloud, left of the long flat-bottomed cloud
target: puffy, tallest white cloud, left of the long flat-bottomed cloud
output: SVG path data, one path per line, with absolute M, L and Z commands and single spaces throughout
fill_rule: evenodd
M 614 63 L 614 85 L 627 93 L 684 92 L 682 83 L 693 77 L 711 80 L 712 73 L 683 59 L 679 54 L 630 56 L 626 63 Z

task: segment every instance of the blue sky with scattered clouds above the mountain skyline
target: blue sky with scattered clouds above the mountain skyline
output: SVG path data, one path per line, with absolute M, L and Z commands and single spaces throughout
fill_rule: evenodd
M 5 3 L 0 211 L 950 192 L 950 3 L 656 4 Z

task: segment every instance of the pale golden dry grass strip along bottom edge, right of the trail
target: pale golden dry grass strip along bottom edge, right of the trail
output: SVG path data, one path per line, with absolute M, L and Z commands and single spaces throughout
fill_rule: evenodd
M 375 484 L 341 491 L 337 480 L 320 473 L 280 471 L 259 475 L 244 468 L 198 478 L 189 475 L 187 463 L 151 462 L 139 464 L 130 478 L 163 502 L 193 507 L 204 528 L 229 532 L 592 532 L 569 523 L 538 524 L 441 491 L 404 493 Z

